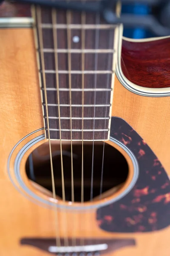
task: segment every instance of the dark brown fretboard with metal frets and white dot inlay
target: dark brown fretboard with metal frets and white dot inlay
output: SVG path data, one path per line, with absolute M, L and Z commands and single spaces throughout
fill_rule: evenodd
M 108 140 L 116 26 L 98 14 L 42 8 L 34 19 L 46 138 Z

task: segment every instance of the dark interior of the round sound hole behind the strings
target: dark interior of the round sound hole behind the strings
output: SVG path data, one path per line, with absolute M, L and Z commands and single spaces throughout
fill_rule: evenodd
M 52 159 L 56 195 L 62 198 L 61 156 L 59 144 L 52 144 Z M 93 143 L 84 143 L 84 201 L 90 201 Z M 103 143 L 94 143 L 93 198 L 100 195 Z M 71 146 L 62 146 L 65 180 L 65 199 L 71 201 Z M 82 145 L 73 144 L 74 200 L 81 201 Z M 116 148 L 105 143 L 102 192 L 119 188 L 128 175 L 125 157 Z M 51 166 L 48 143 L 36 148 L 26 162 L 26 173 L 30 180 L 52 191 Z

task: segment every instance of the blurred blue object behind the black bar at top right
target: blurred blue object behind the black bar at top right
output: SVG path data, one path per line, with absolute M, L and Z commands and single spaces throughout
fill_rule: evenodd
M 147 15 L 147 14 L 150 14 L 150 7 L 140 3 L 134 3 L 133 5 L 123 5 L 122 13 L 128 13 L 128 14 L 134 14 L 134 15 Z M 152 32 L 142 27 L 136 27 L 136 28 L 125 27 L 123 35 L 127 38 L 136 38 L 136 39 L 155 37 L 155 35 Z

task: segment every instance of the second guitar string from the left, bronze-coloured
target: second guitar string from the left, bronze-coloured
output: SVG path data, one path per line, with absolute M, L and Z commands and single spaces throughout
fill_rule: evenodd
M 54 40 L 54 60 L 55 60 L 55 71 L 56 71 L 56 84 L 57 84 L 57 102 L 58 102 L 58 115 L 59 115 L 59 144 L 60 144 L 60 156 L 61 156 L 61 175 L 62 175 L 62 201 L 65 203 L 65 183 L 64 183 L 64 170 L 63 170 L 63 159 L 62 159 L 62 137 L 61 137 L 61 119 L 60 119 L 60 100 L 59 100 L 59 74 L 58 74 L 58 53 L 57 53 L 57 11 L 52 9 L 52 26 L 53 26 L 53 40 Z M 65 209 L 62 211 L 64 221 L 64 232 L 68 234 L 67 230 L 67 215 Z M 68 246 L 68 236 L 64 236 L 64 246 Z

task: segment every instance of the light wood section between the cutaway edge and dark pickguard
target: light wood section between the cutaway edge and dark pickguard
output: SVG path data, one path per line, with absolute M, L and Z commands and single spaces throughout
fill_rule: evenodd
M 122 107 L 123 104 L 123 107 Z M 170 97 L 131 93 L 115 80 L 112 116 L 119 116 L 146 141 L 170 175 Z

